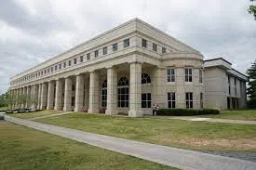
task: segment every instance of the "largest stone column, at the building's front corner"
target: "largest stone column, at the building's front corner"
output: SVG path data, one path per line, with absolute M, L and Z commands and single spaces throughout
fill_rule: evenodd
M 141 111 L 141 63 L 130 64 L 129 111 L 128 116 L 140 117 Z

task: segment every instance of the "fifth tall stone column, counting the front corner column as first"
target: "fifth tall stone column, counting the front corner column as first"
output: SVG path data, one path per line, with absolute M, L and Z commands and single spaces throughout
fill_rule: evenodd
M 70 77 L 66 77 L 63 111 L 72 111 L 71 99 L 72 99 L 72 80 Z

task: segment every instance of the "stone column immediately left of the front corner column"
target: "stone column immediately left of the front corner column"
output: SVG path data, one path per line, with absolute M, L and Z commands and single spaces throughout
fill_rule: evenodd
M 117 72 L 115 68 L 107 69 L 107 109 L 106 114 L 117 114 L 116 110 L 116 85 L 117 85 Z

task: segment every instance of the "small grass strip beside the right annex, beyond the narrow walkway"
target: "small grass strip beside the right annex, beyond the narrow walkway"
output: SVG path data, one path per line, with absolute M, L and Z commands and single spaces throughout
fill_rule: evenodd
M 221 114 L 201 115 L 200 117 L 255 121 L 256 110 L 221 111 Z

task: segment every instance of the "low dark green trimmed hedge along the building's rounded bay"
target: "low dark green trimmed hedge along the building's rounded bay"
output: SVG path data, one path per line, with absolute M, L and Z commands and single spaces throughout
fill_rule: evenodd
M 193 115 L 204 115 L 204 114 L 220 114 L 219 110 L 213 109 L 160 109 L 157 111 L 157 115 L 164 116 L 193 116 Z

